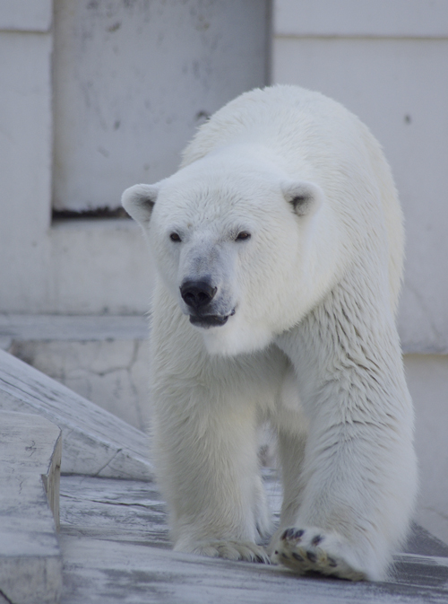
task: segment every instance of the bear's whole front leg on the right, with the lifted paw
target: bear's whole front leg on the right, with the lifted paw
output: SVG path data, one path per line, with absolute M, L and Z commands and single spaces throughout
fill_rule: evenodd
M 361 321 L 341 324 L 347 314 L 323 307 L 280 340 L 295 362 L 309 433 L 300 475 L 285 474 L 286 493 L 303 488 L 296 509 L 284 507 L 271 552 L 298 573 L 381 580 L 415 501 L 413 411 L 391 324 L 378 318 L 370 334 Z

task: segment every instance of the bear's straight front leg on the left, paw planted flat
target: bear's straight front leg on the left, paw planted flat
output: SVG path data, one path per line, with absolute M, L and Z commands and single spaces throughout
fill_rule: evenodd
M 219 386 L 212 396 L 203 382 L 172 376 L 165 383 L 159 378 L 157 390 L 154 457 L 175 550 L 269 563 L 256 545 L 270 520 L 254 405 Z

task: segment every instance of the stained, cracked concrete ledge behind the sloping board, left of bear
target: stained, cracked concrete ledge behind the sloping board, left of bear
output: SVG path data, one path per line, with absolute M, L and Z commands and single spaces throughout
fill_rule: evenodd
M 0 314 L 0 348 L 145 431 L 148 319 Z

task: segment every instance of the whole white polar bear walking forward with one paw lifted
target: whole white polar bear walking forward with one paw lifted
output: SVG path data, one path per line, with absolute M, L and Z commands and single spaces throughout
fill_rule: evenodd
M 269 562 L 268 420 L 284 491 L 271 559 L 382 579 L 417 480 L 401 208 L 375 138 L 317 92 L 254 90 L 123 205 L 157 267 L 153 447 L 175 549 Z

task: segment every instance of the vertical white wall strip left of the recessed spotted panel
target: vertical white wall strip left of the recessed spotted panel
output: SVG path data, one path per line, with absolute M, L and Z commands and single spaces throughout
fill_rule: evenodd
M 0 32 L 0 308 L 49 302 L 51 36 Z

